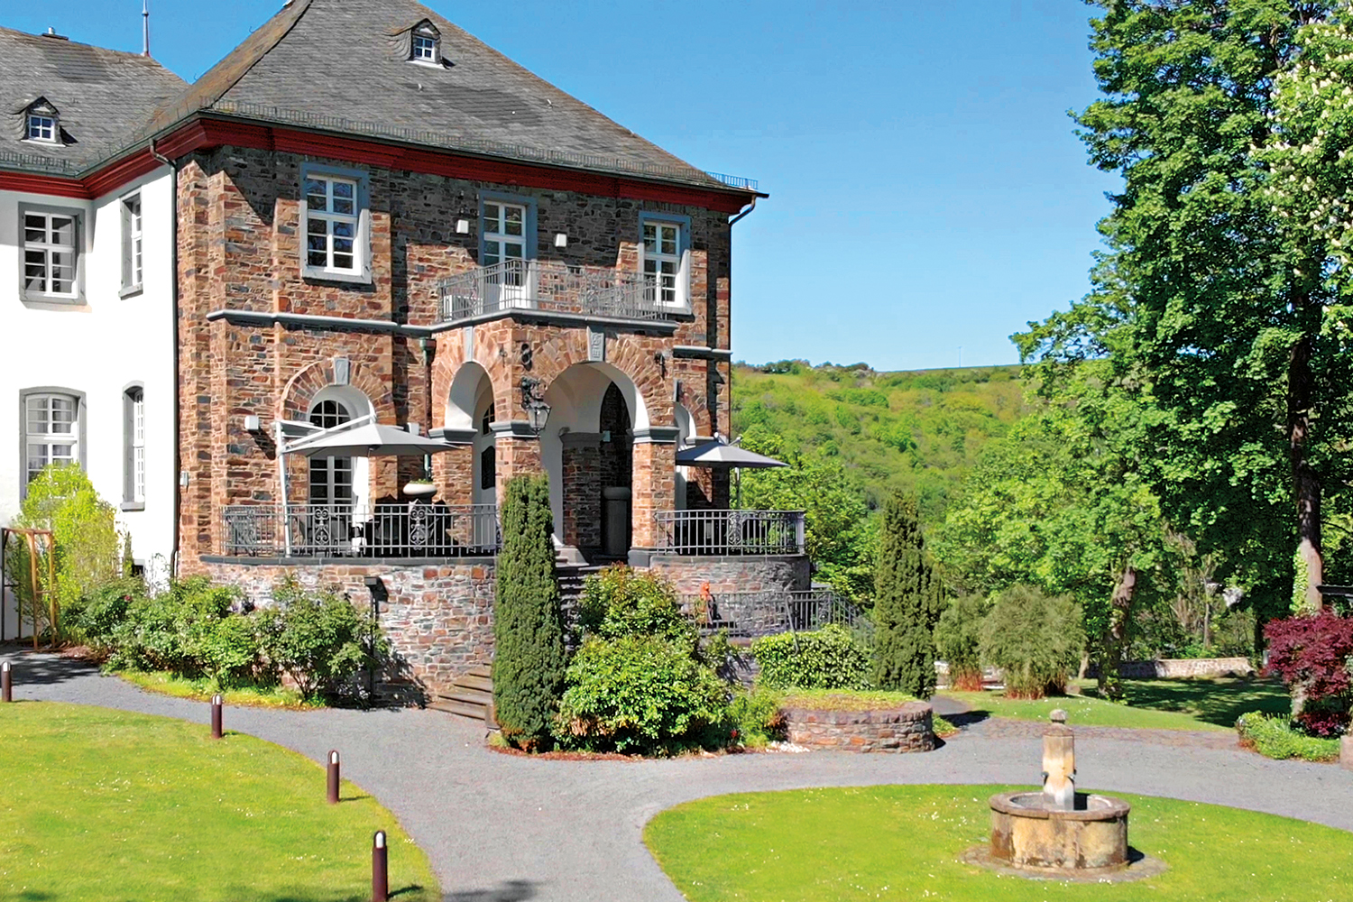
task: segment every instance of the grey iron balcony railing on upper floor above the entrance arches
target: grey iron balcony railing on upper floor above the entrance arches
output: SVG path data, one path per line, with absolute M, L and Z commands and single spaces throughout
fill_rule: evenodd
M 553 260 L 505 260 L 441 283 L 444 323 L 511 310 L 612 319 L 663 321 L 678 310 L 658 302 L 651 276 Z

